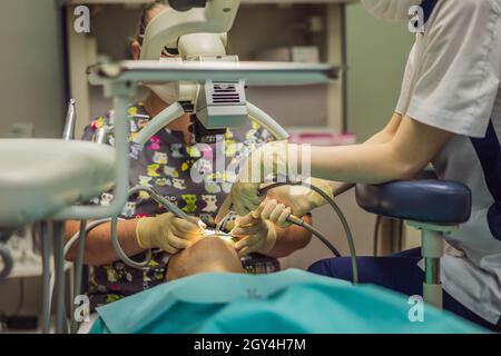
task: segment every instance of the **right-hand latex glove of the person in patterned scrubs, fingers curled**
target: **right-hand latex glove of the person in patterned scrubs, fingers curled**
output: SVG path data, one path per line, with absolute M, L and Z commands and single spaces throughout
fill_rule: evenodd
M 246 215 L 235 222 L 237 227 L 232 230 L 232 236 L 238 239 L 234 246 L 238 256 L 252 253 L 266 255 L 275 246 L 276 229 L 272 221 Z

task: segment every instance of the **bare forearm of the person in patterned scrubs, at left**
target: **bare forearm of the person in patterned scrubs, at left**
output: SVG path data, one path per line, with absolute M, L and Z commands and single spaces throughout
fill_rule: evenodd
M 117 233 L 120 246 L 127 256 L 134 256 L 144 251 L 136 239 L 136 225 L 138 219 L 118 221 Z M 78 233 L 80 224 L 78 221 L 67 221 L 67 239 Z M 75 245 L 68 253 L 67 259 L 75 260 L 77 256 L 77 246 Z M 118 260 L 110 237 L 110 222 L 102 224 L 94 228 L 86 238 L 86 249 L 84 263 L 90 266 L 99 266 Z

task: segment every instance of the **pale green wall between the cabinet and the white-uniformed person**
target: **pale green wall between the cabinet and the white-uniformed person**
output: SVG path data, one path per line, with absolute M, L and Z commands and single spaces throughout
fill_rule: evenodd
M 348 129 L 361 141 L 392 116 L 413 40 L 406 23 L 380 21 L 361 4 L 346 7 Z

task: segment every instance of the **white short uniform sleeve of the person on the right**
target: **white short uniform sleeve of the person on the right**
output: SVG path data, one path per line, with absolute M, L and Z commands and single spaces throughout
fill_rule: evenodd
M 439 1 L 414 62 L 419 72 L 407 116 L 458 135 L 485 135 L 501 81 L 499 4 Z

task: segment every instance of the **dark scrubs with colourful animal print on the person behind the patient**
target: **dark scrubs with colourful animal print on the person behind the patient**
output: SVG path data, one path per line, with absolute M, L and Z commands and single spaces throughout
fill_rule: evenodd
M 141 102 L 129 107 L 128 116 L 130 138 L 134 138 L 150 117 Z M 84 139 L 94 140 L 96 130 L 105 128 L 108 144 L 112 146 L 112 126 L 114 112 L 110 111 L 86 128 Z M 232 188 L 238 161 L 269 140 L 267 130 L 256 123 L 246 129 L 228 130 L 214 145 L 185 145 L 183 132 L 163 129 L 143 149 L 130 145 L 129 185 L 150 187 L 187 214 L 214 218 Z M 224 157 L 225 167 L 218 166 L 217 157 Z M 95 202 L 108 205 L 111 199 L 112 195 L 105 192 L 95 198 Z M 129 198 L 121 217 L 153 217 L 166 211 L 147 192 L 140 192 Z M 132 258 L 144 260 L 145 254 Z M 130 268 L 122 261 L 92 268 L 89 286 L 92 309 L 165 281 L 168 259 L 168 254 L 157 250 L 146 270 Z M 279 269 L 276 259 L 257 254 L 244 257 L 243 266 L 248 273 Z

